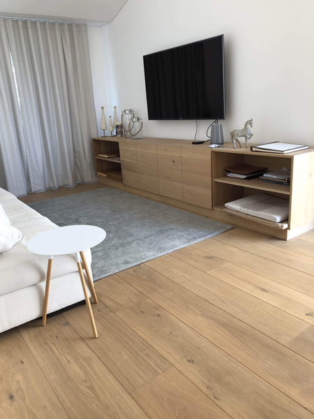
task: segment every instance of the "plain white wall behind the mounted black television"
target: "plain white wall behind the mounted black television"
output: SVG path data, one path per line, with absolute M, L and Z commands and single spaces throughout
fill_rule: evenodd
M 96 112 L 100 101 L 110 115 L 114 105 L 133 108 L 144 135 L 193 139 L 193 121 L 148 121 L 142 56 L 225 34 L 225 140 L 253 118 L 251 142 L 314 146 L 313 15 L 313 0 L 128 0 L 110 24 L 89 28 L 104 62 L 91 60 Z M 209 124 L 199 123 L 197 139 Z

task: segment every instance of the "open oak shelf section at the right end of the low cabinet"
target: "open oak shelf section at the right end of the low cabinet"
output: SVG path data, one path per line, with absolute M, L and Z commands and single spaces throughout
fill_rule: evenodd
M 225 176 L 225 168 L 237 164 L 249 164 L 267 168 L 268 171 L 287 168 L 290 170 L 290 185 L 263 182 L 258 177 L 239 179 Z M 252 152 L 251 149 L 226 145 L 211 152 L 213 179 L 213 209 L 222 221 L 230 219 L 241 226 L 276 235 L 289 240 L 314 227 L 314 149 L 306 149 L 289 154 Z M 280 223 L 274 223 L 249 216 L 241 212 L 228 210 L 225 203 L 260 192 L 289 201 L 289 217 Z M 229 218 L 228 218 L 229 217 Z M 278 230 L 283 230 L 279 233 Z

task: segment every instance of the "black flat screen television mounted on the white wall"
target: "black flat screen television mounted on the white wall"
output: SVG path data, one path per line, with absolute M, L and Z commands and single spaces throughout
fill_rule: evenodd
M 149 119 L 225 119 L 223 35 L 143 59 Z

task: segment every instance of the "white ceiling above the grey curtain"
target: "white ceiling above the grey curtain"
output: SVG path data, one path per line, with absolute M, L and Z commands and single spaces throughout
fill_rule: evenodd
M 128 0 L 1 0 L 0 16 L 85 22 L 111 22 Z

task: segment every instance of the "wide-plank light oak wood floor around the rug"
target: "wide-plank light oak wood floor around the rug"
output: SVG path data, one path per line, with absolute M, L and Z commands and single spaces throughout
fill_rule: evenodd
M 1 334 L 0 418 L 314 419 L 313 256 L 236 227 L 96 281 L 98 339 L 84 304 Z

